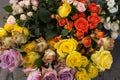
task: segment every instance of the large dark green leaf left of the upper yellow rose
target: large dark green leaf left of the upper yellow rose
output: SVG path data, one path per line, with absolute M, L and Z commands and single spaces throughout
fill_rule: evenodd
M 51 21 L 50 12 L 45 8 L 40 8 L 39 9 L 39 18 L 44 23 L 50 22 Z

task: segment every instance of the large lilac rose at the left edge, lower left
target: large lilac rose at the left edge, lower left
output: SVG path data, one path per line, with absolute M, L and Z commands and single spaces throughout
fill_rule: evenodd
M 22 55 L 17 50 L 4 50 L 3 54 L 0 55 L 0 67 L 8 68 L 12 72 L 22 60 Z

